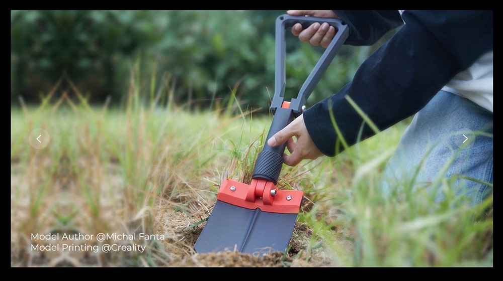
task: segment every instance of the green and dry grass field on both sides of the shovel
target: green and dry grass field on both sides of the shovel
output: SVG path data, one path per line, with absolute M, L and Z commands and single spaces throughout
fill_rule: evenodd
M 192 218 L 183 227 L 195 228 L 223 179 L 250 180 L 271 116 L 243 109 L 235 88 L 229 103 L 189 111 L 158 106 L 152 88 L 150 101 L 140 103 L 142 88 L 131 83 L 122 108 L 90 106 L 75 88 L 71 100 L 55 91 L 46 95 L 53 95 L 50 103 L 12 108 L 12 265 L 33 264 L 23 254 L 33 232 L 155 233 L 164 206 Z M 171 91 L 157 98 L 161 94 L 171 99 Z M 459 198 L 447 196 L 436 205 L 428 194 L 412 192 L 414 183 L 391 196 L 378 189 L 406 125 L 400 122 L 337 157 L 284 167 L 278 186 L 305 192 L 299 223 L 310 229 L 307 246 L 289 253 L 291 259 L 316 264 L 324 249 L 331 265 L 492 266 L 492 196 L 480 206 L 452 207 Z M 51 134 L 48 148 L 27 143 L 35 127 Z M 451 182 L 441 184 L 449 194 Z M 112 256 L 109 264 L 169 266 L 167 260 L 193 254 L 191 245 L 169 243 L 152 241 L 145 255 Z M 286 255 L 282 263 L 288 265 Z

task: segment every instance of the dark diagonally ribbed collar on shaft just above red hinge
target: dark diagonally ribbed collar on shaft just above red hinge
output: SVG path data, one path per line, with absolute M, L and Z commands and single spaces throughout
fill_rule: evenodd
M 283 156 L 273 151 L 259 153 L 251 178 L 273 182 L 275 185 L 280 177 L 283 166 Z

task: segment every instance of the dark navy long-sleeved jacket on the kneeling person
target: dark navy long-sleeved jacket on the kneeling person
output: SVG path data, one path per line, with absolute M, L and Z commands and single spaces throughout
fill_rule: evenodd
M 349 44 L 372 43 L 396 25 L 396 19 L 389 17 L 370 22 L 373 18 L 361 12 L 336 11 L 350 28 L 359 29 L 350 32 Z M 421 110 L 457 73 L 492 50 L 492 14 L 492 11 L 403 12 L 406 24 L 360 66 L 353 81 L 304 112 L 307 130 L 316 147 L 327 156 L 343 150 L 341 147 L 336 150 L 340 142 L 331 114 L 348 145 L 359 140 L 363 118 L 346 96 L 380 130 Z M 374 134 L 366 124 L 362 132 L 361 139 Z

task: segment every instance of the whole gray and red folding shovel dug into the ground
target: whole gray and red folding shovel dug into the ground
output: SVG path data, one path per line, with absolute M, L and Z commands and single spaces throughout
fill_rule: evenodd
M 297 98 L 284 101 L 285 31 L 296 23 L 307 28 L 316 22 L 333 26 L 336 36 L 302 85 Z M 346 41 L 348 33 L 348 26 L 336 19 L 289 15 L 276 19 L 275 93 L 271 103 L 274 118 L 267 139 L 302 114 L 308 96 Z M 197 252 L 237 250 L 261 256 L 272 251 L 286 251 L 304 193 L 276 189 L 285 147 L 286 144 L 279 147 L 264 145 L 249 185 L 229 179 L 223 181 L 213 211 L 194 245 Z

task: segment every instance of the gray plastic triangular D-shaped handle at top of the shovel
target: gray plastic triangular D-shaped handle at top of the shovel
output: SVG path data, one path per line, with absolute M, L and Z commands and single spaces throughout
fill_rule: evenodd
M 290 103 L 290 109 L 293 109 L 294 116 L 297 117 L 302 113 L 302 106 L 306 104 L 306 100 L 314 90 L 319 79 L 330 65 L 332 59 L 341 49 L 342 45 L 349 36 L 349 28 L 341 20 L 315 18 L 315 17 L 298 17 L 282 15 L 276 19 L 276 53 L 275 53 L 275 80 L 274 80 L 274 97 L 271 103 L 271 110 L 276 112 L 276 108 L 283 105 L 283 97 L 285 95 L 285 31 L 293 27 L 296 23 L 302 24 L 305 29 L 313 23 L 328 23 L 336 29 L 336 36 L 332 39 L 326 50 L 321 55 L 320 59 L 314 66 L 311 74 L 307 77 L 302 88 L 300 89 L 297 98 L 293 98 Z

